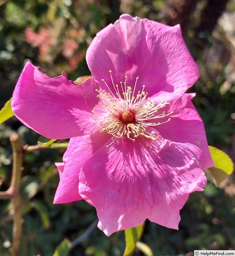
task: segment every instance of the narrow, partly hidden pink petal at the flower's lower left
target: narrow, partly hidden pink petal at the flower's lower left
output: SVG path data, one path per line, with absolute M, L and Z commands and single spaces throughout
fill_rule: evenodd
M 57 163 L 60 181 L 55 192 L 54 204 L 82 200 L 78 193 L 78 174 L 82 165 L 110 139 L 107 133 L 72 138 L 63 156 L 63 163 Z

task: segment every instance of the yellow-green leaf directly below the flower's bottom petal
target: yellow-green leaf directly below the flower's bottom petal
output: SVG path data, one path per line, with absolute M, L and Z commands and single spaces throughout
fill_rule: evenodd
M 141 238 L 145 224 L 135 228 L 125 229 L 125 252 L 123 256 L 132 255 L 137 241 Z

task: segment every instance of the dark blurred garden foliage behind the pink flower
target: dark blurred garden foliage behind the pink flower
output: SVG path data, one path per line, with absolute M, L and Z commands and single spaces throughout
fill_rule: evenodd
M 89 75 L 85 55 L 92 38 L 124 12 L 181 24 L 200 67 L 200 79 L 190 92 L 197 93 L 194 104 L 204 120 L 208 143 L 235 160 L 235 0 L 0 0 L 0 107 L 11 97 L 27 59 L 50 76 L 63 71 L 71 80 Z M 16 118 L 0 125 L 0 190 L 10 182 L 8 138 L 13 131 L 22 144 L 36 144 L 39 138 Z M 20 256 L 52 256 L 64 238 L 73 241 L 96 220 L 94 208 L 83 201 L 52 203 L 59 182 L 54 162 L 61 161 L 63 152 L 45 149 L 24 155 Z M 1 201 L 0 256 L 11 254 L 11 235 L 11 205 Z M 179 231 L 147 221 L 141 240 L 156 256 L 235 249 L 234 176 L 219 188 L 209 177 L 204 192 L 193 193 L 181 211 Z M 121 256 L 124 249 L 124 232 L 108 238 L 95 228 L 70 255 Z

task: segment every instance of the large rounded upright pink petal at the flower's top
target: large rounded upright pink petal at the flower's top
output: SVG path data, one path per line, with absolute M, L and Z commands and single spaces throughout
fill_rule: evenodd
M 98 32 L 86 53 L 92 76 L 102 87 L 112 88 L 127 75 L 127 85 L 137 91 L 146 85 L 149 96 L 161 100 L 179 98 L 199 77 L 199 71 L 184 43 L 180 26 L 169 27 L 152 20 L 122 15 Z

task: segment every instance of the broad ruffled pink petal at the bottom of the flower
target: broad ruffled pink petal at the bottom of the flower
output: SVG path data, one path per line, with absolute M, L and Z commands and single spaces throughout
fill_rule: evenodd
M 146 218 L 178 228 L 180 209 L 189 193 L 202 191 L 204 172 L 183 146 L 140 138 L 103 145 L 79 173 L 79 193 L 98 214 L 98 227 L 110 235 L 133 228 Z

